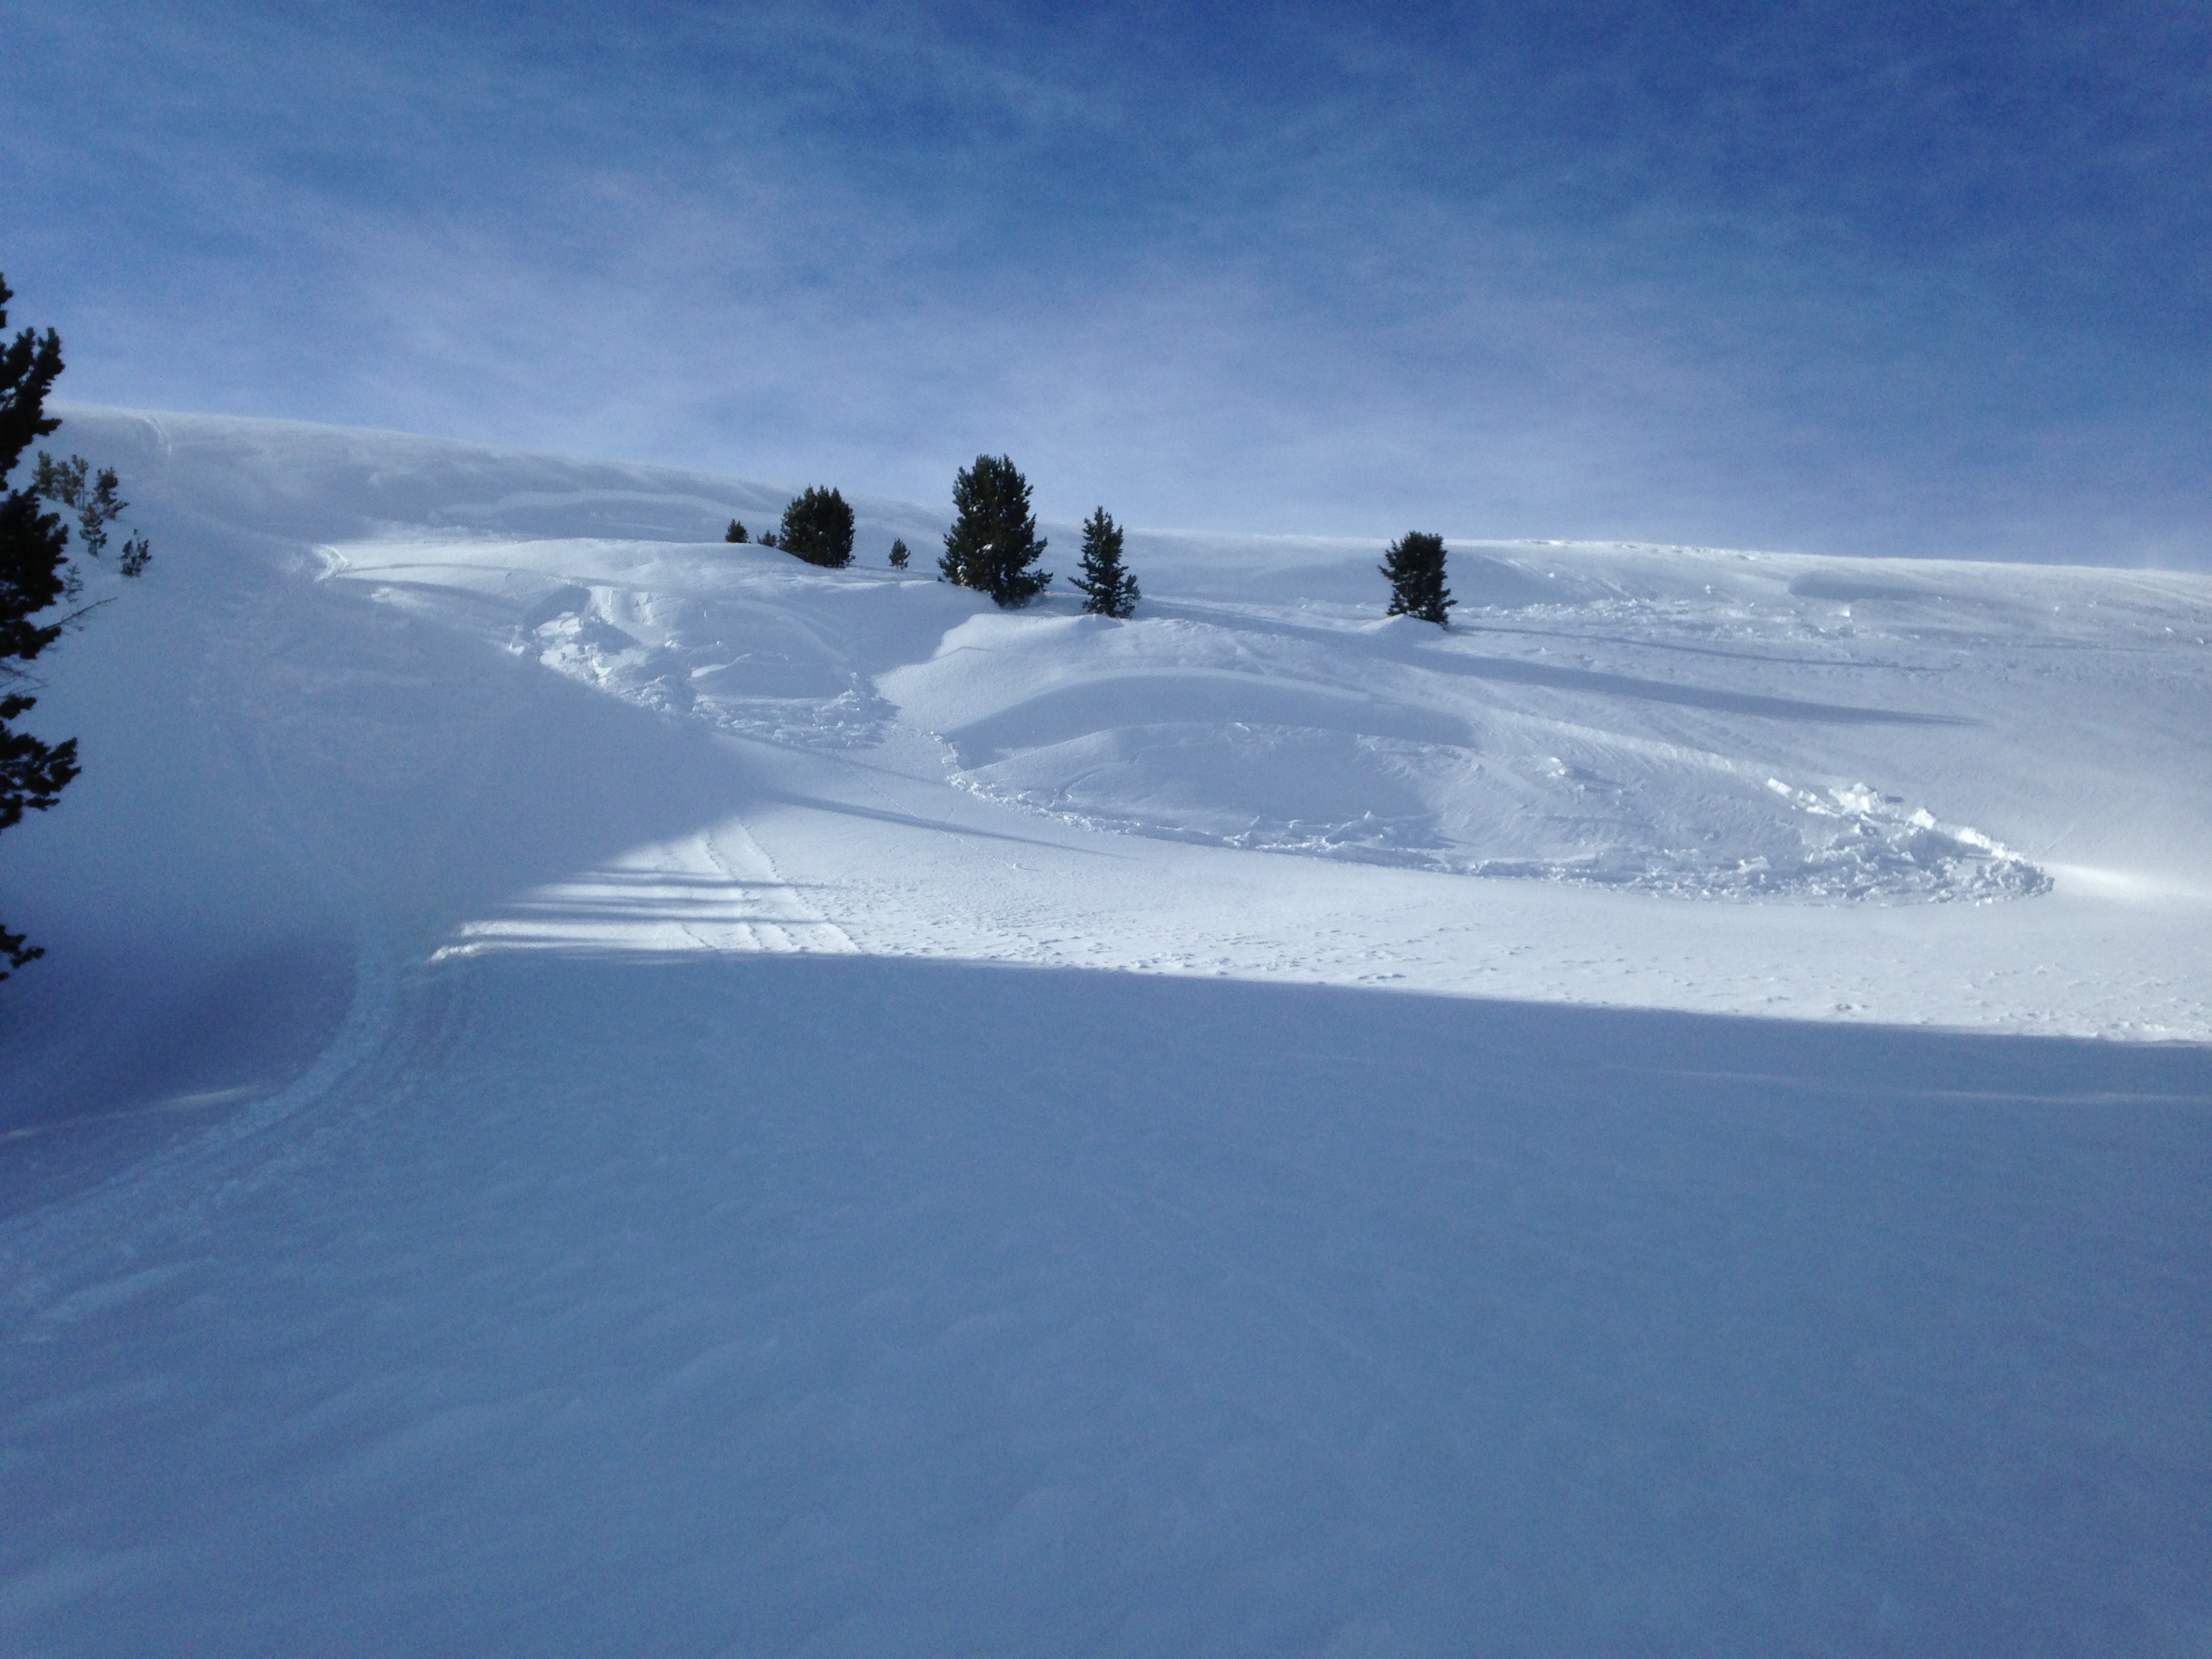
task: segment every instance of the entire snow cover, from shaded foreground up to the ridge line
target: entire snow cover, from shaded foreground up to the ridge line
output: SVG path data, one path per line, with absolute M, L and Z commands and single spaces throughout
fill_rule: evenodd
M 2212 1646 L 2212 580 L 66 414 L 0 1648 Z

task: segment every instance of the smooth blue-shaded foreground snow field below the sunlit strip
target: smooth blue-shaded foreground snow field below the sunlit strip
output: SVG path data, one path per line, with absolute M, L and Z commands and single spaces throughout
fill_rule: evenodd
M 312 1121 L 18 1230 L 0 1628 L 2188 1652 L 2205 1079 L 1232 980 L 449 962 Z

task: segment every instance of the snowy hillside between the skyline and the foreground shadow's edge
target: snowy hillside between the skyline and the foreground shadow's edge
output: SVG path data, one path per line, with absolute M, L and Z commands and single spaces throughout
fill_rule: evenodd
M 1133 531 L 1110 622 L 936 582 L 922 507 L 818 571 L 721 540 L 768 484 L 66 414 L 157 562 L 42 692 L 88 770 L 0 845 L 24 998 L 327 980 L 323 1029 L 378 940 L 2205 1026 L 2205 577 L 1449 538 L 1440 630 L 1374 542 Z

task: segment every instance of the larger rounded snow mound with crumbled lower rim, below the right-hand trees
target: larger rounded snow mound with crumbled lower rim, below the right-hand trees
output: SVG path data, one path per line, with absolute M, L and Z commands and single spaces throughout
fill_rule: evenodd
M 1095 830 L 1677 898 L 1991 900 L 2026 858 L 1865 783 L 1792 785 L 1681 686 L 1495 659 L 1475 630 L 1250 615 L 975 617 L 883 677 L 958 785 Z M 1579 681 L 1579 684 L 1577 684 Z M 1524 688 L 1584 692 L 1531 701 Z M 1690 695 L 1697 695 L 1690 690 Z M 1719 714 L 1942 723 L 1705 699 Z M 1741 706 L 1741 708 L 1732 708 Z M 1692 703 L 1694 706 L 1694 703 Z

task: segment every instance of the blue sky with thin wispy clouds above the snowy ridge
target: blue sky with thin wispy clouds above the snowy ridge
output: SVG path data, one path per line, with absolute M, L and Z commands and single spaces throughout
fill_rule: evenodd
M 2212 564 L 2212 7 L 0 2 L 88 403 Z

